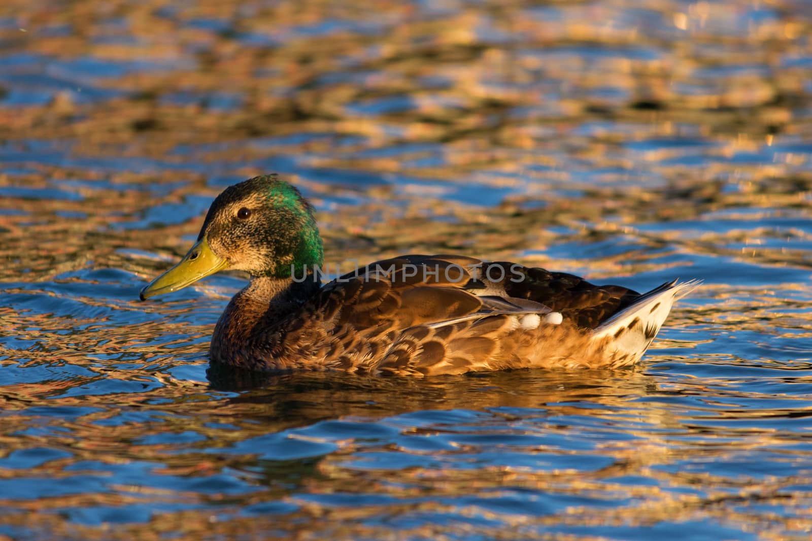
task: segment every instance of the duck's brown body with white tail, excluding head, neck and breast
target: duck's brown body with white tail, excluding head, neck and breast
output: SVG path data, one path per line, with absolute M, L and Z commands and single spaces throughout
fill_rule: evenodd
M 270 309 L 239 355 L 216 351 L 221 336 L 212 357 L 264 370 L 411 375 L 625 366 L 689 288 L 641 295 L 510 262 L 408 255 L 343 275 L 297 309 Z

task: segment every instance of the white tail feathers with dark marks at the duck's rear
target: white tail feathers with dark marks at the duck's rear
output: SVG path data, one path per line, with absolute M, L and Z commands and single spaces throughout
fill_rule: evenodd
M 663 326 L 676 299 L 698 288 L 702 280 L 663 283 L 646 292 L 632 305 L 608 318 L 593 331 L 594 340 L 611 337 L 610 348 L 630 361 L 637 361 L 646 353 L 654 336 Z

